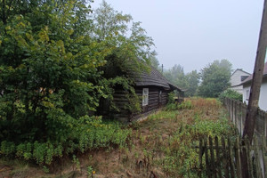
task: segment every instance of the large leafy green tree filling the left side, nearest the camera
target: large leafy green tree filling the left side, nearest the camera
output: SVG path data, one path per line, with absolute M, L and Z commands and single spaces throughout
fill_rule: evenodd
M 110 50 L 88 34 L 90 2 L 0 2 L 0 140 L 60 140 L 104 95 Z

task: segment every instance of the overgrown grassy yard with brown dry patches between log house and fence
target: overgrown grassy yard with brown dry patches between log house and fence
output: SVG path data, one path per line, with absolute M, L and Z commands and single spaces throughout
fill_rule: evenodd
M 0 177 L 197 177 L 198 139 L 231 134 L 226 111 L 214 99 L 190 99 L 169 109 L 131 125 L 125 147 L 77 153 L 41 168 L 2 158 Z

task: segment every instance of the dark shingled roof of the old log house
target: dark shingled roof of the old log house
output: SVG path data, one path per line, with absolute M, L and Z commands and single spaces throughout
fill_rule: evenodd
M 173 85 L 169 82 L 166 77 L 164 77 L 158 69 L 150 67 L 150 72 L 143 71 L 139 77 L 135 78 L 135 85 L 143 86 L 143 85 L 155 85 L 162 86 L 167 90 L 176 89 L 182 91 L 178 86 Z

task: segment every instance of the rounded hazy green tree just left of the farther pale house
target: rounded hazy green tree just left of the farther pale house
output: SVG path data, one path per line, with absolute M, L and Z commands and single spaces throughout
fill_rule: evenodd
M 214 61 L 201 69 L 201 85 L 198 94 L 204 97 L 218 97 L 230 84 L 231 62 L 228 60 Z

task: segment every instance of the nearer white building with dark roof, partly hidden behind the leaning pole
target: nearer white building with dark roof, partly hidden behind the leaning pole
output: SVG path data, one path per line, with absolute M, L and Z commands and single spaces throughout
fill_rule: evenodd
M 248 102 L 250 86 L 252 81 L 252 75 L 242 83 L 243 85 L 243 102 Z M 260 109 L 267 110 L 267 62 L 264 65 L 263 70 L 263 83 L 261 85 L 260 98 L 259 98 Z

